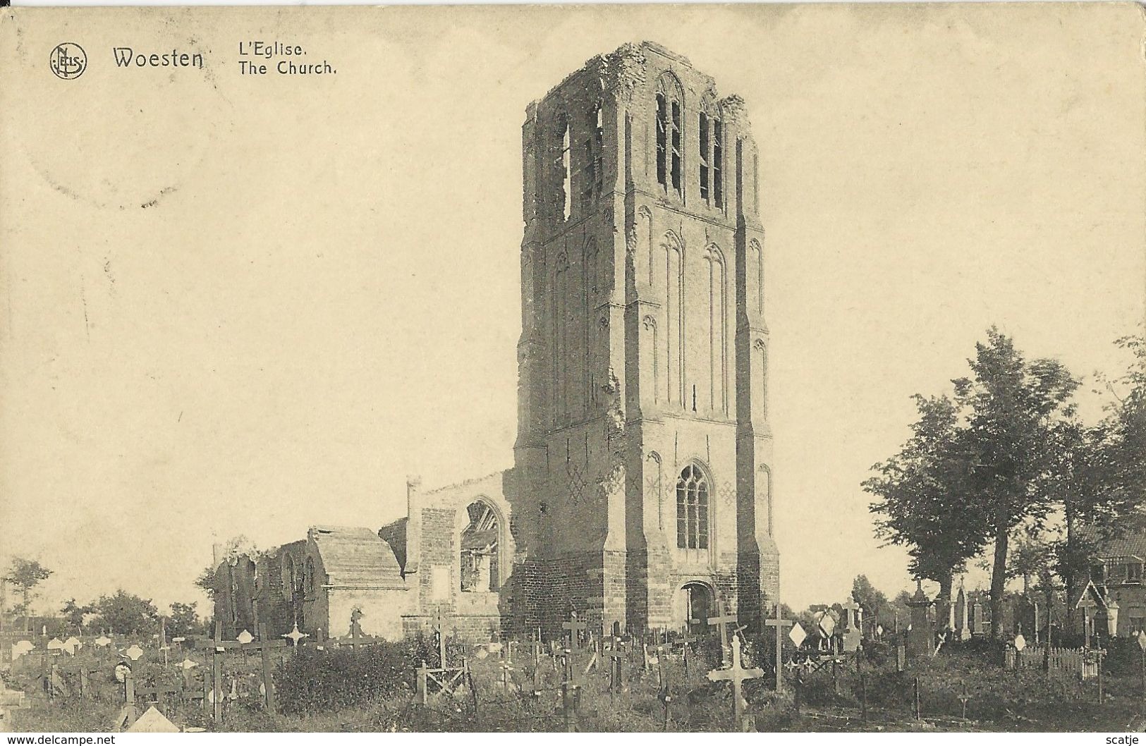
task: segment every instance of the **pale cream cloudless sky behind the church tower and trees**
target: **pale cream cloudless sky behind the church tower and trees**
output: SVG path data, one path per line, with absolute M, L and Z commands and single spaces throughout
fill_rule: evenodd
M 525 107 L 626 41 L 740 94 L 761 149 L 786 603 L 908 587 L 859 482 L 990 324 L 1082 375 L 1144 316 L 1129 3 L 86 13 L 0 28 L 0 556 L 55 571 L 41 608 L 202 598 L 212 541 L 510 466 Z M 241 78 L 245 39 L 338 73 Z

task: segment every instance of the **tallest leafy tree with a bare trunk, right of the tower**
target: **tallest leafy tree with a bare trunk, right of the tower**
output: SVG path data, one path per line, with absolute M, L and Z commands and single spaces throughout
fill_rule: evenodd
M 973 455 L 967 482 L 995 541 L 991 565 L 991 637 L 998 638 L 1011 533 L 1023 523 L 1041 526 L 1054 501 L 1043 484 L 1057 417 L 1069 418 L 1078 386 L 1054 360 L 1026 360 L 1014 341 L 991 327 L 968 360 L 972 376 L 955 382 L 957 405 L 967 411 Z

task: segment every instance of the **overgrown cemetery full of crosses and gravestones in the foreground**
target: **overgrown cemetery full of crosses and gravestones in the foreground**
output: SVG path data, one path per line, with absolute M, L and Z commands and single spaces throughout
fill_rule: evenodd
M 555 639 L 387 642 L 292 630 L 167 639 L 6 633 L 0 723 L 21 731 L 991 731 L 1146 725 L 1146 634 L 1062 649 L 991 643 L 963 605 L 939 630 L 921 588 L 902 633 L 851 599 L 814 629 L 774 615 L 680 630 L 591 628 Z M 975 628 L 976 617 L 979 628 Z M 949 620 L 948 620 L 949 621 Z M 1112 622 L 1112 627 L 1116 626 Z M 15 639 L 19 637 L 19 639 Z

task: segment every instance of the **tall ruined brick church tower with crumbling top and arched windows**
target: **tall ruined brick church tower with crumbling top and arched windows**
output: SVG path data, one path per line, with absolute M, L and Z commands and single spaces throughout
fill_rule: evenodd
M 777 599 L 760 168 L 744 101 L 664 47 L 523 126 L 512 626 L 680 628 Z

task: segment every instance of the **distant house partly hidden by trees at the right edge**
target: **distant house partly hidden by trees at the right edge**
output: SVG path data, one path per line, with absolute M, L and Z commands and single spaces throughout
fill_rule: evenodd
M 1146 533 L 1128 533 L 1114 539 L 1092 539 L 1097 544 L 1086 582 L 1075 591 L 1070 606 L 1076 614 L 1075 630 L 1088 635 L 1106 634 L 1112 602 L 1117 606 L 1117 636 L 1146 630 Z

